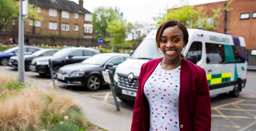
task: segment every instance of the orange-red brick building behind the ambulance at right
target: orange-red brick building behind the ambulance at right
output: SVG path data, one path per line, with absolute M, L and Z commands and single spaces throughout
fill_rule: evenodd
M 213 16 L 212 8 L 217 9 L 221 7 L 224 9 L 228 2 L 222 1 L 195 5 L 194 9 L 196 10 L 198 7 L 203 6 L 205 15 L 211 17 Z M 229 7 L 233 8 L 233 10 L 228 12 L 221 10 L 220 18 L 218 19 L 220 23 L 219 28 L 213 31 L 244 37 L 248 51 L 248 65 L 256 66 L 256 0 L 234 0 Z M 255 53 L 252 51 L 255 51 Z

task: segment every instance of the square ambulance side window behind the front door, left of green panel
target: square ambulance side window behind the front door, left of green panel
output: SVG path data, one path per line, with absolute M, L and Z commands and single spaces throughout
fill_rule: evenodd
M 220 64 L 225 62 L 225 50 L 222 44 L 205 43 L 206 62 L 209 64 Z

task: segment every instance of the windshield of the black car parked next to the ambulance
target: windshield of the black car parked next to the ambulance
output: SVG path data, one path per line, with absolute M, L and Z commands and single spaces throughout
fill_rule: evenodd
M 106 63 L 112 56 L 108 56 L 105 54 L 97 54 L 94 55 L 82 62 L 82 64 L 96 64 L 96 65 L 102 65 Z

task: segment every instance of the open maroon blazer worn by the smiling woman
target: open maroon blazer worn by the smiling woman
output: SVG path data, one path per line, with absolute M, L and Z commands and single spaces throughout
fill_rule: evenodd
M 150 60 L 141 66 L 131 131 L 149 130 L 149 105 L 143 87 L 161 60 Z M 186 59 L 181 61 L 179 122 L 180 131 L 211 130 L 211 101 L 205 71 Z

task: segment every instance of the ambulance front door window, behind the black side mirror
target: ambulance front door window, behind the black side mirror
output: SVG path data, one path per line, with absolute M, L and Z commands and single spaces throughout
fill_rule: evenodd
M 191 54 L 197 55 L 197 62 L 201 59 L 202 56 L 202 42 L 194 41 L 187 52 L 187 58 L 190 58 Z

